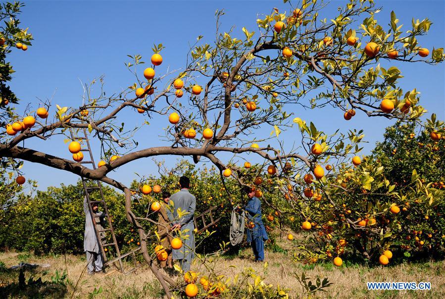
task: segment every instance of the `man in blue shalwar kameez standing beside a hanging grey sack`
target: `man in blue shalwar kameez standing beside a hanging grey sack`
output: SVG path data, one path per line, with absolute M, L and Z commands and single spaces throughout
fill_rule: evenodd
M 264 241 L 269 240 L 261 219 L 261 201 L 255 197 L 254 189 L 244 188 L 249 198 L 244 209 L 247 211 L 248 223 L 253 222 L 253 228 L 247 228 L 247 243 L 250 243 L 255 255 L 255 261 L 264 261 Z

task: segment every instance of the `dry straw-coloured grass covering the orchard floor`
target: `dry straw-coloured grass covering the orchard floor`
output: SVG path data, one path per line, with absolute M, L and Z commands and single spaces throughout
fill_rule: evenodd
M 0 253 L 0 261 L 7 267 L 19 262 L 19 253 Z M 301 275 L 304 271 L 306 276 L 321 278 L 327 277 L 333 283 L 327 293 L 317 294 L 323 298 L 445 298 L 445 261 L 426 262 L 414 264 L 399 264 L 390 267 L 369 268 L 361 265 L 336 268 L 331 263 L 317 264 L 315 266 L 303 265 L 292 260 L 292 255 L 283 253 L 266 252 L 268 266 L 264 269 L 263 264 L 253 263 L 251 250 L 245 250 L 240 257 L 218 257 L 217 272 L 234 277 L 245 267 L 251 267 L 265 277 L 265 282 L 280 285 L 289 290 L 291 298 L 304 298 L 304 290 L 298 283 L 293 273 Z M 49 263 L 48 271 L 37 271 L 35 277 L 51 280 L 51 276 L 58 270 L 68 273 L 69 280 L 75 285 L 85 268 L 85 257 L 83 256 L 31 256 L 29 263 Z M 192 267 L 193 268 L 193 267 Z M 200 265 L 195 265 L 193 270 L 207 273 Z M 26 279 L 30 276 L 26 274 Z M 431 282 L 431 291 L 368 291 L 366 282 Z M 12 281 L 9 281 L 11 283 Z M 94 298 L 160 298 L 161 288 L 147 267 L 138 270 L 128 276 L 108 270 L 107 275 L 95 275 L 89 277 L 84 274 L 74 292 L 74 298 L 88 298 L 95 289 L 102 287 L 102 293 Z M 68 286 L 65 297 L 70 298 L 73 287 Z M 4 295 L 4 294 L 3 294 Z M 0 295 L 0 298 L 4 296 Z

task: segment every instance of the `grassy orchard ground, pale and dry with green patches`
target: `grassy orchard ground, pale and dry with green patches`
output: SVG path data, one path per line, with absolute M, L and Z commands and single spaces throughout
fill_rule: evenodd
M 283 243 L 285 240 L 283 240 Z M 251 249 L 241 252 L 241 258 L 217 258 L 218 272 L 227 277 L 234 277 L 245 267 L 253 268 L 265 277 L 265 283 L 280 285 L 289 290 L 290 298 L 304 298 L 304 289 L 301 287 L 294 273 L 313 281 L 317 276 L 328 278 L 332 286 L 326 293 L 317 293 L 322 298 L 445 298 L 445 261 L 425 261 L 422 263 L 401 263 L 389 267 L 368 267 L 357 263 L 345 263 L 341 268 L 334 267 L 331 262 L 305 265 L 292 260 L 290 252 L 285 250 L 266 251 L 268 267 L 252 262 Z M 24 258 L 26 257 L 26 259 Z M 19 272 L 7 270 L 7 267 L 25 260 L 29 263 L 50 264 L 49 269 L 34 269 L 24 272 L 25 282 L 30 281 L 25 289 L 19 287 Z M 106 299 L 133 299 L 133 298 L 163 298 L 164 293 L 159 283 L 147 267 L 130 275 L 122 275 L 108 269 L 107 274 L 92 277 L 83 274 L 79 285 L 74 286 L 85 268 L 85 257 L 76 255 L 47 255 L 34 256 L 30 253 L 3 252 L 0 253 L 0 298 L 106 298 Z M 192 266 L 192 270 L 206 273 L 201 265 Z M 56 276 L 56 271 L 58 276 Z M 62 273 L 66 272 L 63 278 Z M 31 280 L 30 280 L 31 278 Z M 41 278 L 40 283 L 35 281 Z M 177 278 L 182 280 L 182 278 Z M 366 282 L 431 282 L 430 291 L 368 291 Z M 34 282 L 34 284 L 33 284 Z M 52 293 L 51 293 L 52 292 Z M 73 294 L 74 292 L 74 294 Z

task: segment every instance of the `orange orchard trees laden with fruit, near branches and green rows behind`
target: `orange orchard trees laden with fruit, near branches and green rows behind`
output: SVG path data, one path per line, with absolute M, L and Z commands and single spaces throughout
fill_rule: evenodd
M 32 51 L 33 36 L 20 26 L 23 3 L 0 4 L 5 23 L 0 32 L 0 247 L 83 252 L 81 182 L 27 195 L 25 188 L 36 189 L 39 180 L 39 174 L 27 171 L 33 162 L 105 186 L 119 249 L 140 247 L 138 262 L 148 265 L 167 298 L 293 295 L 247 270 L 229 279 L 207 257 L 237 253 L 228 231 L 246 186 L 262 204 L 270 234 L 266 249 L 276 250 L 277 240 L 285 238 L 295 262 L 340 268 L 358 260 L 390 267 L 395 260 L 441 256 L 445 123 L 437 114 L 443 111 L 422 107 L 422 86 L 402 89 L 406 65 L 443 68 L 443 45 L 422 44 L 433 22 L 415 16 L 412 22 L 399 20 L 396 11 L 378 22 L 381 9 L 374 1 L 342 2 L 329 18 L 320 17 L 326 14 L 322 1 L 284 3 L 286 9 L 262 11 L 256 28 L 227 32 L 221 30 L 224 12 L 217 11 L 214 40 L 199 36 L 189 53 L 178 52 L 187 58 L 181 69 L 160 68 L 173 58 L 163 54 L 159 41 L 152 52 L 128 55 L 125 67 L 132 81 L 122 82 L 125 88 L 105 92 L 101 77 L 86 88 L 100 85 L 99 96 L 87 93 L 71 106 L 26 102 L 9 88 L 12 74 L 21 74 L 13 73 L 14 61 L 7 58 L 12 51 Z M 363 154 L 372 128 L 355 122 L 357 129 L 332 134 L 305 119 L 305 109 L 327 106 L 334 130 L 359 115 L 393 122 Z M 162 124 L 150 123 L 153 117 Z M 129 119 L 144 123 L 129 128 Z M 133 138 L 138 130 L 162 146 L 141 147 L 142 140 Z M 280 139 L 284 131 L 291 131 L 294 140 Z M 83 132 L 93 151 L 100 151 L 94 167 L 86 164 L 90 144 L 73 138 Z M 60 136 L 64 143 L 53 142 Z M 61 148 L 61 154 L 39 148 L 43 143 Z M 166 167 L 160 159 L 179 163 Z M 134 174 L 130 184 L 113 178 L 132 162 L 154 167 Z M 166 260 L 167 253 L 160 245 L 165 235 L 156 227 L 162 192 L 179 191 L 181 175 L 191 179 L 195 214 L 213 207 L 219 221 L 201 232 L 174 236 L 171 245 L 179 249 L 195 234 L 196 260 L 206 269 L 183 273 L 175 267 L 176 279 L 159 269 L 158 260 Z M 246 222 L 246 229 L 250 225 Z

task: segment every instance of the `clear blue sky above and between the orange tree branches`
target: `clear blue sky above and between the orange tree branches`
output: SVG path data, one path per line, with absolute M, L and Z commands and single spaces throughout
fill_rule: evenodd
M 294 1 L 293 3 L 297 3 Z M 326 7 L 323 14 L 327 17 L 337 12 L 337 7 L 344 1 L 333 1 Z M 427 36 L 420 37 L 419 43 L 426 48 L 441 48 L 444 42 L 444 11 L 445 1 L 377 1 L 383 10 L 377 19 L 383 25 L 389 23 L 390 12 L 395 10 L 399 24 L 405 24 L 408 30 L 411 18 L 429 17 L 433 26 Z M 28 51 L 13 50 L 8 56 L 15 73 L 11 88 L 21 99 L 17 110 L 23 112 L 24 103 L 32 102 L 33 107 L 39 106 L 39 99 L 52 98 L 53 105 L 79 106 L 82 102 L 83 89 L 81 82 L 89 83 L 94 78 L 104 75 L 107 94 L 119 92 L 135 80 L 126 70 L 124 62 L 127 54 L 141 54 L 149 61 L 153 44 L 162 43 L 163 64 L 157 71 L 163 72 L 185 66 L 189 43 L 196 41 L 199 35 L 205 42 L 211 42 L 215 34 L 215 10 L 225 10 L 222 18 L 222 30 L 228 31 L 235 26 L 234 36 L 243 38 L 242 27 L 249 31 L 256 28 L 257 14 L 270 13 L 273 7 L 281 12 L 289 11 L 288 4 L 283 1 L 33 1 L 26 2 L 20 15 L 22 27 L 29 27 L 34 36 L 33 46 Z M 386 28 L 386 27 L 385 27 Z M 421 92 L 421 104 L 429 111 L 434 111 L 439 119 L 444 119 L 444 64 L 430 66 L 426 64 L 395 63 L 402 71 L 403 79 L 400 86 L 404 90 L 416 87 Z M 140 69 L 141 73 L 143 68 Z M 394 123 L 386 118 L 367 118 L 357 113 L 354 121 L 343 120 L 341 111 L 330 107 L 316 110 L 302 110 L 293 106 L 289 112 L 306 121 L 314 121 L 317 128 L 332 133 L 336 128 L 342 132 L 348 129 L 364 129 L 365 145 L 362 153 L 369 153 L 375 142 L 381 140 L 384 128 Z M 430 114 L 430 113 L 429 113 Z M 428 115 L 429 115 L 428 114 Z M 119 121 L 128 123 L 128 127 L 143 122 L 143 117 L 135 116 L 135 112 L 123 113 Z M 166 125 L 165 117 L 154 117 L 149 120 L 150 126 L 144 127 L 136 137 L 140 147 L 165 145 L 160 142 L 156 132 Z M 269 134 L 272 128 L 263 129 Z M 153 133 L 154 132 L 154 133 Z M 296 138 L 297 137 L 297 138 Z M 286 145 L 298 143 L 299 134 L 296 129 L 289 129 L 280 138 Z M 70 158 L 63 137 L 55 137 L 49 142 L 33 140 L 25 146 L 65 158 Z M 99 148 L 96 150 L 96 162 L 99 161 Z M 228 156 L 220 156 L 223 160 Z M 249 157 L 253 161 L 253 157 Z M 174 159 L 168 160 L 167 166 L 175 164 Z M 58 186 L 60 183 L 75 183 L 77 176 L 51 169 L 49 167 L 26 162 L 22 168 L 26 177 L 39 182 L 39 189 Z M 121 167 L 110 174 L 110 177 L 128 184 L 139 174 L 155 175 L 155 167 L 151 158 L 136 161 Z

